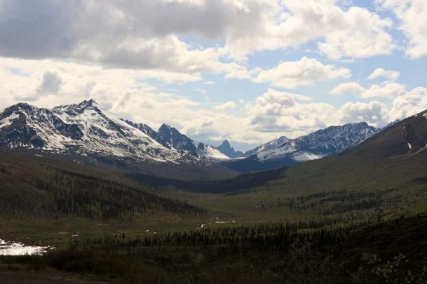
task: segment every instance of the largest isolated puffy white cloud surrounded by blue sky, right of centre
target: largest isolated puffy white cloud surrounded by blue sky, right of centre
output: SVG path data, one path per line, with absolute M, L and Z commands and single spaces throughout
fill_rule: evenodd
M 319 81 L 336 78 L 349 78 L 350 69 L 338 68 L 334 65 L 323 65 L 314 58 L 301 58 L 299 61 L 281 62 L 273 69 L 259 72 L 253 80 L 257 83 L 271 83 L 283 88 L 312 85 Z

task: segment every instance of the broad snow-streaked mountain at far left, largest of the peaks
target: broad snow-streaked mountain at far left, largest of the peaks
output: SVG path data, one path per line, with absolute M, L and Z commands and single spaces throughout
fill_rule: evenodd
M 53 109 L 15 104 L 0 113 L 0 148 L 41 149 L 61 154 L 115 156 L 141 161 L 179 161 L 141 130 L 104 111 L 93 100 Z

